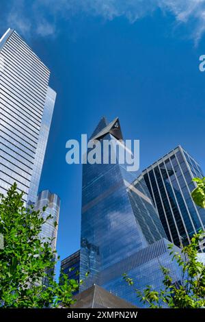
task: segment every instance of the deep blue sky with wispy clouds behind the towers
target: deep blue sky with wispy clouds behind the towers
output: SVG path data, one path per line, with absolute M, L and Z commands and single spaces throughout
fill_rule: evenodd
M 146 3 L 146 4 L 145 4 Z M 205 1 L 1 0 L 0 33 L 23 36 L 51 69 L 57 92 L 40 190 L 61 197 L 57 250 L 79 249 L 81 165 L 66 141 L 120 117 L 145 168 L 176 145 L 204 162 Z

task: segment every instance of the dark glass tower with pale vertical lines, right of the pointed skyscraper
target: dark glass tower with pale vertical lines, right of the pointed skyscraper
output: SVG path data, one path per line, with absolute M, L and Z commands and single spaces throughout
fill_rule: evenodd
M 195 206 L 191 191 L 193 177 L 203 177 L 202 169 L 178 146 L 142 173 L 168 240 L 175 245 L 189 243 L 191 236 L 204 230 L 205 210 Z M 204 248 L 202 243 L 201 248 Z

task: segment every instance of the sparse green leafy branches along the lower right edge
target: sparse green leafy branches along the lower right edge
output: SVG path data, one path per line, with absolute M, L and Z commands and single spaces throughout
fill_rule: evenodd
M 205 208 L 205 177 L 195 178 L 197 188 L 191 193 L 197 206 Z M 182 246 L 181 252 L 174 251 L 174 245 L 169 245 L 172 260 L 178 263 L 182 271 L 179 281 L 173 279 L 169 269 L 161 267 L 163 273 L 162 290 L 153 290 L 151 286 L 141 291 L 135 288 L 137 297 L 150 308 L 204 308 L 205 307 L 205 266 L 198 260 L 199 245 L 204 239 L 204 232 L 199 232 L 191 238 L 188 246 Z M 133 279 L 124 274 L 124 280 L 132 287 Z

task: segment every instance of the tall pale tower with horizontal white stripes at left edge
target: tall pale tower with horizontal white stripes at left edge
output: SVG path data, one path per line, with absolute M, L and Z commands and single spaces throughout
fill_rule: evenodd
M 0 40 L 0 192 L 35 203 L 55 104 L 49 69 L 18 34 Z

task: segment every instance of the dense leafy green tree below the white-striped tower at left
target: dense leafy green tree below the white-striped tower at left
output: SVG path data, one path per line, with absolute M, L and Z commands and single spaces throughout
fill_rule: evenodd
M 25 208 L 16 184 L 7 195 L 0 194 L 0 234 L 4 238 L 0 249 L 1 308 L 58 307 L 59 303 L 70 307 L 74 303 L 72 293 L 79 284 L 66 274 L 61 275 L 59 284 L 55 282 L 53 240 L 39 238 L 42 225 L 50 218 L 44 220 L 33 207 Z

